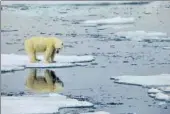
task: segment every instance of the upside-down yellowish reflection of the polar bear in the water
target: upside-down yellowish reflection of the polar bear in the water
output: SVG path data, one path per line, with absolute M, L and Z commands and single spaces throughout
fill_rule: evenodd
M 59 92 L 63 89 L 64 84 L 52 70 L 45 70 L 43 77 L 37 76 L 36 69 L 30 69 L 26 86 L 36 92 Z

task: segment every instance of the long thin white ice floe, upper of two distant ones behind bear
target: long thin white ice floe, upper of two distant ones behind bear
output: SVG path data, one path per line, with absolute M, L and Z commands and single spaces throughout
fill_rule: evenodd
M 99 20 L 87 20 L 84 21 L 85 24 L 132 24 L 135 19 L 133 17 L 123 18 L 114 17 L 109 19 L 99 19 Z

